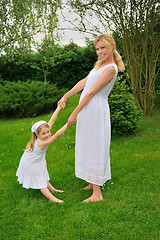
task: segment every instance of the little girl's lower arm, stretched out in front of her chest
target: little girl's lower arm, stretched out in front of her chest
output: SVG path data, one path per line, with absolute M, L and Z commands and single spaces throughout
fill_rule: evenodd
M 66 129 L 67 129 L 67 123 L 62 128 L 60 128 L 52 137 L 50 137 L 49 140 L 47 140 L 47 141 L 40 141 L 38 143 L 38 147 L 41 150 L 45 149 L 50 144 L 52 144 L 54 141 L 56 141 L 57 138 L 59 138 L 66 131 Z

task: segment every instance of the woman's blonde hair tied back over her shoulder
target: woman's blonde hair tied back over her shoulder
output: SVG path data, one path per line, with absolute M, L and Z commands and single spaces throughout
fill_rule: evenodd
M 120 54 L 118 53 L 118 51 L 116 50 L 116 43 L 114 38 L 109 35 L 109 34 L 101 34 L 98 37 L 96 37 L 96 39 L 94 40 L 94 46 L 96 47 L 97 42 L 102 41 L 104 43 L 105 46 L 114 46 L 114 50 L 113 50 L 113 55 L 114 55 L 114 59 L 115 62 L 117 64 L 118 70 L 120 72 L 123 72 L 125 70 L 125 66 L 122 60 L 122 57 L 120 56 Z M 98 58 L 98 61 L 95 63 L 95 68 L 99 68 L 103 63 L 103 60 Z

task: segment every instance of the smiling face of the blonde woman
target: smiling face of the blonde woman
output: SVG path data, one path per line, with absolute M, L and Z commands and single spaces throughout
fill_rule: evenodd
M 96 43 L 96 53 L 104 62 L 113 58 L 113 45 L 106 46 L 102 41 Z

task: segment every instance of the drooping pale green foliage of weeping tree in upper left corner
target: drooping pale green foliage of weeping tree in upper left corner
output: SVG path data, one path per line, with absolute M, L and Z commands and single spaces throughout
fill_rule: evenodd
M 37 33 L 54 39 L 59 4 L 59 0 L 1 0 L 1 53 L 14 58 L 17 49 L 31 49 Z

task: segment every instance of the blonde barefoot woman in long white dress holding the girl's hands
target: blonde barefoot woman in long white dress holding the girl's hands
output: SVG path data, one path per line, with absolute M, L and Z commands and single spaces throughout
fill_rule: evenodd
M 67 125 L 71 126 L 77 119 L 75 174 L 89 183 L 85 190 L 93 189 L 91 197 L 84 202 L 103 200 L 100 186 L 111 178 L 111 129 L 107 98 L 118 70 L 125 69 L 111 35 L 98 36 L 94 46 L 98 55 L 95 67 L 59 101 L 60 105 L 64 104 L 69 97 L 83 89 L 79 104 L 70 115 Z

